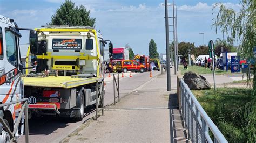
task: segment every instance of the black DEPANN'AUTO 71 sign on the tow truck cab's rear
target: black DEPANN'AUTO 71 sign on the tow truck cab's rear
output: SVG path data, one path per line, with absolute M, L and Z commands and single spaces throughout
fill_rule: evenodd
M 52 39 L 52 49 L 82 49 L 82 39 Z

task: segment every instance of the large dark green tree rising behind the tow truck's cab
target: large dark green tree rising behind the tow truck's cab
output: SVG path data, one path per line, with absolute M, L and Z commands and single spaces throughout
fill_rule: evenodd
M 91 18 L 90 10 L 84 8 L 83 5 L 75 7 L 75 2 L 66 0 L 55 14 L 51 17 L 48 25 L 69 25 L 69 26 L 91 26 L 95 27 L 95 18 Z

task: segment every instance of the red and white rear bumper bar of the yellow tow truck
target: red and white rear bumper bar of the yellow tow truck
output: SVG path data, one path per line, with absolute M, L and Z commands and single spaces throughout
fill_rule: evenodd
M 58 110 L 60 109 L 60 103 L 48 103 L 48 102 L 40 102 L 36 104 L 28 104 L 29 109 L 50 109 L 50 110 Z

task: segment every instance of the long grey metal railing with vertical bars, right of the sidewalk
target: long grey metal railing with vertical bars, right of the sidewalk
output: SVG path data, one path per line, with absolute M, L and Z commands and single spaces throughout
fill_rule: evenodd
M 213 123 L 184 80 L 180 79 L 181 112 L 192 142 L 227 142 L 224 135 Z M 209 128 L 214 139 L 209 134 Z

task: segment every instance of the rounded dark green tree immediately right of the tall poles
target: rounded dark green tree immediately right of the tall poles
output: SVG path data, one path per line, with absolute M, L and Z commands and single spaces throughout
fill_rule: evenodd
M 178 43 L 178 53 L 181 54 L 183 57 L 188 58 L 188 54 L 194 51 L 194 43 L 190 42 L 180 42 Z

